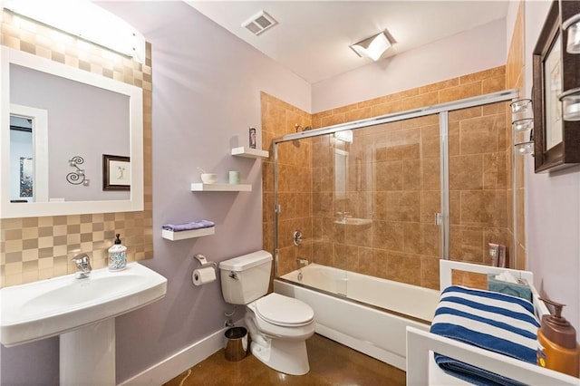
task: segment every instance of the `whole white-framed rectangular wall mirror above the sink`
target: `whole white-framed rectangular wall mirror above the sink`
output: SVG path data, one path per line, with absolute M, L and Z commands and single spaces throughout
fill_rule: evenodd
M 5 46 L 0 66 L 0 217 L 143 210 L 142 90 Z M 103 188 L 105 154 L 130 188 Z

